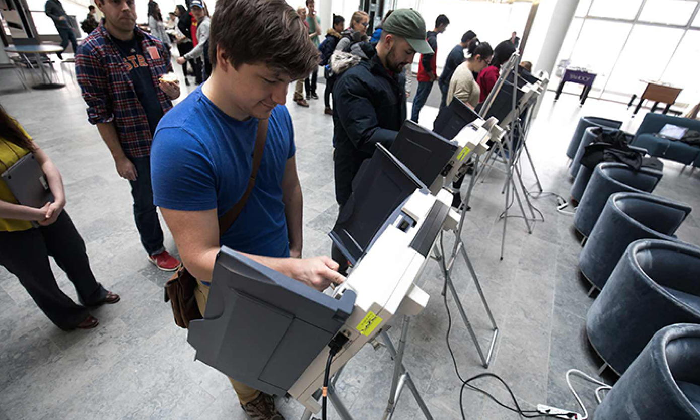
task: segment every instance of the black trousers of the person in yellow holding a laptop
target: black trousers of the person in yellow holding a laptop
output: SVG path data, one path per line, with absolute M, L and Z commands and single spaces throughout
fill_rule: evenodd
M 0 232 L 0 265 L 18 277 L 48 319 L 63 330 L 71 330 L 90 313 L 58 287 L 49 256 L 76 287 L 80 303 L 96 306 L 104 301 L 107 291 L 95 280 L 85 254 L 85 242 L 65 211 L 49 226 Z

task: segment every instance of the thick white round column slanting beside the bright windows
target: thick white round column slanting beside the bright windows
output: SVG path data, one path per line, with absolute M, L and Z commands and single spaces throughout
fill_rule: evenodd
M 557 0 L 552 13 L 552 20 L 549 21 L 549 29 L 545 42 L 542 44 L 540 57 L 535 61 L 534 70 L 544 70 L 552 75 L 556 65 L 556 57 L 559 57 L 561 45 L 566 38 L 566 32 L 573 21 L 576 7 L 579 0 Z

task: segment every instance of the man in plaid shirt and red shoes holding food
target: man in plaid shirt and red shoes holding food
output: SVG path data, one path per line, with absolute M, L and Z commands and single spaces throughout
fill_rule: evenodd
M 162 270 L 180 261 L 163 245 L 163 231 L 151 191 L 151 141 L 160 118 L 180 96 L 170 52 L 136 26 L 134 0 L 97 0 L 104 20 L 76 54 L 76 74 L 87 104 L 87 120 L 97 125 L 117 172 L 130 181 L 134 219 L 148 259 Z

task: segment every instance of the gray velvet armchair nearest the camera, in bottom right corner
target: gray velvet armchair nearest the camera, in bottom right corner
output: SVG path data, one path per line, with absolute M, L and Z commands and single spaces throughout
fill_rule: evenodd
M 700 325 L 662 329 L 612 387 L 593 420 L 700 420 Z

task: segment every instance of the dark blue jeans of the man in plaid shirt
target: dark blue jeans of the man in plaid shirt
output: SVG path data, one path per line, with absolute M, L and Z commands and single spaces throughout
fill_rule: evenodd
M 144 245 L 148 255 L 160 254 L 165 251 L 165 247 L 158 212 L 153 204 L 151 158 L 132 157 L 130 161 L 136 166 L 138 173 L 136 180 L 129 182 L 132 186 L 132 197 L 134 197 L 134 221 L 141 236 L 141 245 Z

